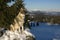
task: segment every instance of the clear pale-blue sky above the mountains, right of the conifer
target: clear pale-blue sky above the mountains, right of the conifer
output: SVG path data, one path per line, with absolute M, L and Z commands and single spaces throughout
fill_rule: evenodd
M 24 0 L 27 10 L 60 11 L 60 0 Z

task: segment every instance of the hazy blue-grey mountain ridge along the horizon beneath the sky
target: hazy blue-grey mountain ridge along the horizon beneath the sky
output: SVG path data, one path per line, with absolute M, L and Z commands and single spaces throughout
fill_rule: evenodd
M 55 16 L 60 16 L 60 12 L 47 12 L 47 11 L 30 11 L 29 14 L 41 14 L 41 15 L 55 15 Z

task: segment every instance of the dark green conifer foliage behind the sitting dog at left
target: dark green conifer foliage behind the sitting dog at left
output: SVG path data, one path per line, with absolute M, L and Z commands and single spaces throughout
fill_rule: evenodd
M 9 7 L 7 3 L 15 1 L 15 4 Z M 18 15 L 20 8 L 25 8 L 23 0 L 0 0 L 0 27 L 9 27 Z

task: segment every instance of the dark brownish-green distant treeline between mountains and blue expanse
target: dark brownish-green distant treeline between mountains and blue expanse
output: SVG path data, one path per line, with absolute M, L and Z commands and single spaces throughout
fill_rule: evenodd
M 55 16 L 55 15 L 34 14 L 30 16 L 30 20 L 37 22 L 49 22 L 53 24 L 55 23 L 60 24 L 60 16 Z

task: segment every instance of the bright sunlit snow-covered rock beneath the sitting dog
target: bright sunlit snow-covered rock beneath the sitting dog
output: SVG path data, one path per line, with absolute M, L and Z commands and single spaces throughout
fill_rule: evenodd
M 0 40 L 26 40 L 27 36 L 33 37 L 33 35 L 26 30 L 23 33 L 6 30 L 6 32 L 0 37 Z

